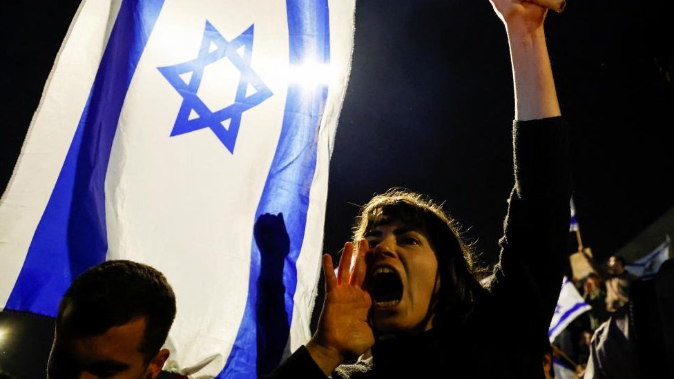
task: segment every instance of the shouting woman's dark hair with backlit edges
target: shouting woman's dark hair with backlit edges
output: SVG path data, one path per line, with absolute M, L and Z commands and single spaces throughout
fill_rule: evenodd
M 483 288 L 475 278 L 474 255 L 461 237 L 458 223 L 430 197 L 404 188 L 392 188 L 375 195 L 360 209 L 354 226 L 354 241 L 358 242 L 376 226 L 396 221 L 424 233 L 438 260 L 442 284 L 434 312 L 450 317 L 435 318 L 435 322 L 456 316 L 465 318 L 473 311 L 474 300 Z

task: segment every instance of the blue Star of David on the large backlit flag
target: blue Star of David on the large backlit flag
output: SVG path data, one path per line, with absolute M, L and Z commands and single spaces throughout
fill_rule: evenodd
M 242 46 L 244 48 L 241 55 L 238 50 Z M 210 128 L 227 150 L 232 154 L 234 153 L 234 144 L 241 124 L 241 114 L 273 95 L 251 68 L 252 55 L 253 25 L 232 41 L 227 41 L 209 21 L 206 21 L 204 37 L 199 56 L 196 59 L 158 68 L 183 99 L 173 130 L 171 130 L 171 137 L 194 130 Z M 211 111 L 197 96 L 197 91 L 201 84 L 204 68 L 223 58 L 229 59 L 239 70 L 241 76 L 233 104 L 220 110 Z M 191 77 L 189 77 L 189 82 L 186 82 L 181 75 L 189 73 L 191 73 Z M 246 95 L 249 86 L 254 91 Z M 229 127 L 226 127 L 225 122 L 228 120 Z

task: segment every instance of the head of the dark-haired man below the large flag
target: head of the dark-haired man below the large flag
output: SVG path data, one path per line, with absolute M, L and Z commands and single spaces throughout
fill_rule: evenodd
M 127 260 L 99 264 L 61 299 L 49 378 L 156 378 L 174 317 L 175 295 L 162 273 Z

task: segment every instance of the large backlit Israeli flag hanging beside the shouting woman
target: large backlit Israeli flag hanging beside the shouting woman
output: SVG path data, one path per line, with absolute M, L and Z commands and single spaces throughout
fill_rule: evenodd
M 166 369 L 253 378 L 307 342 L 355 0 L 85 0 L 0 200 L 0 309 L 144 262 Z

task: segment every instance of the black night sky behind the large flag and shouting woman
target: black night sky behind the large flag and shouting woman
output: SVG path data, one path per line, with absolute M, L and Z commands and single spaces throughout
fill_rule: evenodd
M 0 191 L 78 5 L 0 5 Z M 568 0 L 546 20 L 571 125 L 577 218 L 599 261 L 674 204 L 673 8 L 666 0 Z M 401 186 L 445 202 L 480 263 L 494 264 L 513 182 L 513 108 L 505 29 L 487 0 L 358 0 L 324 251 L 340 251 L 360 204 Z M 570 252 L 574 242 L 570 234 Z

